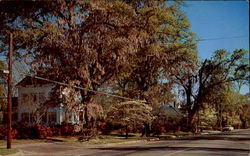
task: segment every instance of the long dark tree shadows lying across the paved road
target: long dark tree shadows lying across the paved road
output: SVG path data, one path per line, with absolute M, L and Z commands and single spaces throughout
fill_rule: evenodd
M 207 151 L 207 152 L 219 152 L 219 153 L 230 153 L 230 152 L 237 152 L 237 155 L 240 155 L 242 153 L 248 153 L 249 149 L 247 148 L 241 148 L 241 147 L 233 147 L 233 146 L 225 146 L 225 147 L 192 147 L 190 145 L 185 146 L 181 145 L 181 140 L 189 141 L 192 140 L 201 140 L 201 142 L 204 142 L 204 140 L 227 140 L 227 141 L 250 141 L 250 137 L 247 137 L 249 134 L 235 134 L 235 133 L 220 133 L 220 134 L 208 134 L 208 135 L 199 135 L 199 136 L 185 136 L 182 138 L 166 138 L 166 140 L 175 140 L 177 141 L 177 144 L 175 145 L 164 145 L 162 143 L 156 143 L 146 146 L 132 146 L 132 147 L 108 147 L 108 148 L 96 148 L 101 151 L 122 151 L 122 152 L 129 152 L 129 153 L 137 153 L 137 152 L 149 152 L 149 151 Z M 165 139 L 164 139 L 165 140 Z M 180 144 L 178 144 L 178 141 L 180 141 Z M 217 142 L 217 141 L 216 141 Z M 179 145 L 179 146 L 178 146 Z M 211 144 L 210 144 L 211 145 Z

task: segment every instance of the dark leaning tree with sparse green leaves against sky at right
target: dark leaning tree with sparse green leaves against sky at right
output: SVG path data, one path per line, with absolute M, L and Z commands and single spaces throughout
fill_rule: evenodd
M 186 91 L 189 129 L 195 127 L 196 116 L 204 103 L 212 102 L 223 85 L 238 80 L 247 81 L 249 65 L 241 61 L 246 55 L 247 51 L 244 49 L 237 49 L 233 53 L 217 50 L 210 60 L 206 59 L 191 74 L 173 72 L 176 82 Z

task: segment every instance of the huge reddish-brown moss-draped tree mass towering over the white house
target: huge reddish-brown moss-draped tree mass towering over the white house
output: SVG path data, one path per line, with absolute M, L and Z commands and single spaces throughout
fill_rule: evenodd
M 195 58 L 187 19 L 165 1 L 52 1 L 33 15 L 17 19 L 16 50 L 40 76 L 89 90 L 119 78 L 149 101 L 163 65 Z M 81 91 L 85 114 L 94 94 Z

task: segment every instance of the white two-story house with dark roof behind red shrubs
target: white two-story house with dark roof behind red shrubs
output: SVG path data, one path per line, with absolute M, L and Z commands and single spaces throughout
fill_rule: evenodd
M 19 122 L 43 123 L 45 125 L 83 122 L 83 111 L 66 111 L 67 109 L 61 104 L 47 109 L 43 107 L 42 104 L 48 99 L 54 84 L 27 76 L 16 87 L 18 88 Z

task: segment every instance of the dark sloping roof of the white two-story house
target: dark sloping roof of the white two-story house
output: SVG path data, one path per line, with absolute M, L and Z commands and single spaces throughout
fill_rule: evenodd
M 16 84 L 16 87 L 25 87 L 27 85 L 45 85 L 45 84 L 50 84 L 50 82 L 36 79 L 31 76 L 26 76 L 24 79 L 22 79 L 19 83 Z

